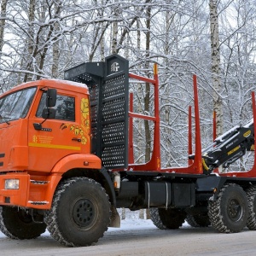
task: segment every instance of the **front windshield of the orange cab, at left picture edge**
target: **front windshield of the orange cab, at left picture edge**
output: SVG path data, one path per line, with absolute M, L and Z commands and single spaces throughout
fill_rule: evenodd
M 0 99 L 0 123 L 22 119 L 32 104 L 36 88 L 15 91 Z

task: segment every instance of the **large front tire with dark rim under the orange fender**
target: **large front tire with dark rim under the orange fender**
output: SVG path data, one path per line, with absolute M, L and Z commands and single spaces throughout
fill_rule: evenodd
M 85 247 L 108 230 L 110 203 L 100 183 L 87 177 L 61 182 L 45 223 L 50 235 L 67 247 Z

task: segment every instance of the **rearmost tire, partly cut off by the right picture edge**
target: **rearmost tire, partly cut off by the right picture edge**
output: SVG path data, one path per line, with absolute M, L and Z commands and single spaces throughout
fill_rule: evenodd
M 256 185 L 247 189 L 247 200 L 249 208 L 249 216 L 247 219 L 247 228 L 256 230 Z

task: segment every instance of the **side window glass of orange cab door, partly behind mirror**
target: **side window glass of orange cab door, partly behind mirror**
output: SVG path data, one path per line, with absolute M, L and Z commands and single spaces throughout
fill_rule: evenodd
M 42 117 L 43 109 L 46 108 L 46 93 L 43 93 L 37 111 L 37 117 Z M 71 96 L 57 95 L 55 105 L 55 119 L 74 121 L 75 120 L 75 99 Z

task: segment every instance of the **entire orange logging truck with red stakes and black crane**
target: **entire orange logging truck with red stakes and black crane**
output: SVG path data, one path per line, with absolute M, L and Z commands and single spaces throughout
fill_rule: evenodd
M 129 79 L 154 86 L 154 114 L 133 112 Z M 110 55 L 65 72 L 65 80 L 20 84 L 0 97 L 0 230 L 32 239 L 49 230 L 68 247 L 89 246 L 119 227 L 117 208 L 149 208 L 160 229 L 192 226 L 219 232 L 256 230 L 256 165 L 218 173 L 254 148 L 256 119 L 201 149 L 194 76 L 195 136 L 189 107 L 188 166 L 161 168 L 157 66 L 154 78 L 129 73 Z M 151 160 L 134 164 L 133 119 L 154 122 Z

